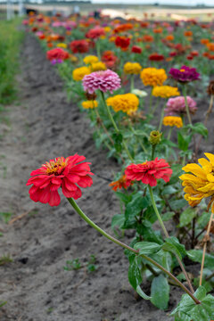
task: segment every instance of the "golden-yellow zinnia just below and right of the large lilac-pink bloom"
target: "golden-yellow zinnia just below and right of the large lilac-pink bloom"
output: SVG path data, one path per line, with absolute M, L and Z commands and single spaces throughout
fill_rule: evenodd
M 137 111 L 139 99 L 134 94 L 115 95 L 106 100 L 108 106 L 111 106 L 114 111 L 123 111 L 128 115 Z

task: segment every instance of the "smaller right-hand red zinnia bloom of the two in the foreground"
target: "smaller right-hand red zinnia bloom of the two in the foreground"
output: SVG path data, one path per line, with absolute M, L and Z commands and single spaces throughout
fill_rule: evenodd
M 142 164 L 131 164 L 125 170 L 125 175 L 129 181 L 142 181 L 142 183 L 156 186 L 157 179 L 162 178 L 166 183 L 172 175 L 169 163 L 165 160 L 145 161 Z

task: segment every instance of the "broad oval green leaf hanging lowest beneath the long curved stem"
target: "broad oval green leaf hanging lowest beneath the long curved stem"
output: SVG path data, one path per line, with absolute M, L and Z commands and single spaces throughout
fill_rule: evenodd
M 163 276 L 154 277 L 152 280 L 152 303 L 159 309 L 167 309 L 169 302 L 169 284 L 168 279 Z

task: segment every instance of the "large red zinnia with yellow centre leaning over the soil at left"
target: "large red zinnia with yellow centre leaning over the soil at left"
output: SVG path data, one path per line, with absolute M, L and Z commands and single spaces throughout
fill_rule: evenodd
M 62 193 L 67 198 L 77 200 L 82 192 L 79 187 L 89 187 L 93 184 L 86 157 L 73 156 L 58 157 L 55 160 L 47 161 L 40 169 L 33 170 L 26 185 L 33 185 L 29 189 L 29 197 L 34 202 L 49 203 L 51 206 L 58 206 L 61 197 L 58 189 L 62 187 Z M 78 185 L 77 185 L 78 184 Z M 79 187 L 78 187 L 79 186 Z

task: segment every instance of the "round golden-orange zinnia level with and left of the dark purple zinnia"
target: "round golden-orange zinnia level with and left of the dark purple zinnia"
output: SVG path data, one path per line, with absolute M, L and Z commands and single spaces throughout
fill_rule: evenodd
M 162 86 L 167 80 L 167 74 L 164 69 L 144 68 L 140 75 L 144 86 Z

